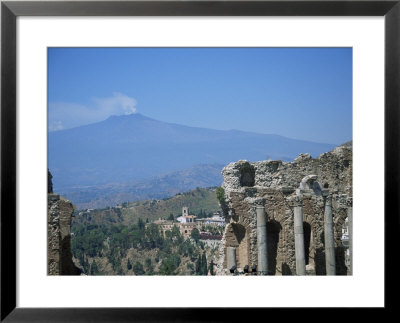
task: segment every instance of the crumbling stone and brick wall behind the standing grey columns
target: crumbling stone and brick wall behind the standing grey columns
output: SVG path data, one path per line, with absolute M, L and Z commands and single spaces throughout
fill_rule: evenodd
M 301 154 L 293 162 L 238 161 L 222 171 L 225 190 L 224 216 L 229 218 L 220 247 L 217 274 L 228 273 L 226 248 L 236 247 L 238 269 L 257 265 L 256 206 L 265 207 L 267 216 L 268 272 L 270 275 L 296 273 L 294 242 L 294 198 L 302 188 L 303 229 L 306 250 L 306 273 L 325 275 L 324 207 L 325 196 L 332 196 L 336 273 L 345 275 L 341 229 L 347 217 L 347 202 L 352 197 L 352 148 L 340 146 L 318 158 Z M 317 179 L 302 180 L 308 175 Z M 307 178 L 308 179 L 308 178 Z M 312 187 L 307 187 L 311 183 Z M 297 191 L 298 192 L 298 191 Z M 325 194 L 326 195 L 326 194 Z M 242 228 L 240 236 L 234 228 Z M 243 232 L 244 231 L 244 232 Z M 240 243 L 239 243 L 240 240 Z M 247 252 L 244 252 L 244 248 Z

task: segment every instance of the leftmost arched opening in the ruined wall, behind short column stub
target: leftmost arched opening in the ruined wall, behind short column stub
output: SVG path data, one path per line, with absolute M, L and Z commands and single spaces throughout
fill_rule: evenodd
M 246 227 L 239 223 L 231 223 L 226 229 L 225 244 L 225 267 L 226 267 L 226 248 L 236 248 L 237 268 L 249 265 L 249 234 Z

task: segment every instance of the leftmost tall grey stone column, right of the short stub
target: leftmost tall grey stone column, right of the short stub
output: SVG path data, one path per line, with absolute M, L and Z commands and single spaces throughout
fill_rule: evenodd
M 257 271 L 260 275 L 268 275 L 268 257 L 267 257 L 267 222 L 265 208 L 256 207 L 257 213 L 257 250 L 258 266 Z

